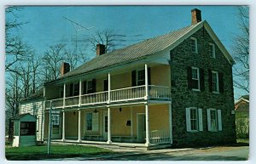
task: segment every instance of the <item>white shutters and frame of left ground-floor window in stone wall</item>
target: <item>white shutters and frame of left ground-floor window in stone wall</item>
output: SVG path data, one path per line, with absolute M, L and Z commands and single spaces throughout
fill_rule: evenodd
M 191 130 L 191 118 L 190 118 L 190 111 L 196 110 L 196 116 L 197 116 L 197 130 Z M 202 123 L 202 109 L 197 107 L 189 107 L 186 108 L 186 127 L 187 132 L 189 133 L 198 133 L 203 131 L 203 123 Z

